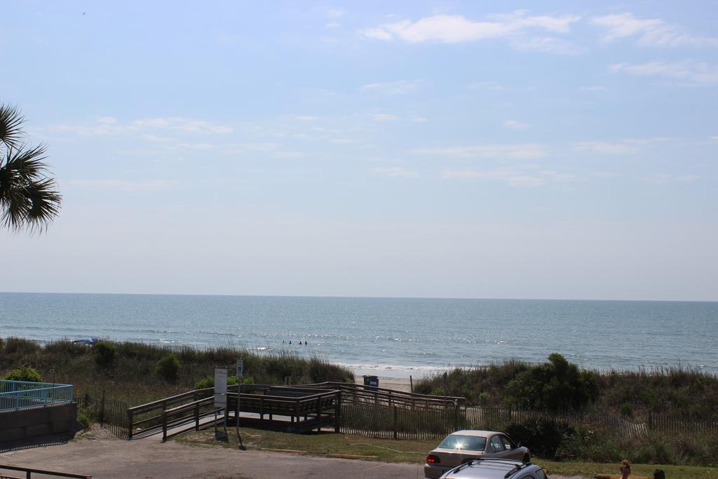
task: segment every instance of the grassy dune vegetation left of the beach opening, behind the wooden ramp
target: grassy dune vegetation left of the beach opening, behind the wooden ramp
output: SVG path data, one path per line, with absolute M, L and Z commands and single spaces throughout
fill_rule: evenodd
M 142 404 L 189 391 L 200 380 L 213 383 L 215 366 L 231 369 L 244 361 L 249 381 L 266 384 L 353 381 L 353 373 L 318 358 L 294 355 L 258 355 L 238 348 L 205 350 L 169 348 L 144 343 L 101 341 L 95 345 L 53 341 L 41 345 L 20 338 L 0 339 L 0 376 L 20 366 L 32 366 L 44 377 L 55 371 L 57 383 L 75 385 L 75 395 Z

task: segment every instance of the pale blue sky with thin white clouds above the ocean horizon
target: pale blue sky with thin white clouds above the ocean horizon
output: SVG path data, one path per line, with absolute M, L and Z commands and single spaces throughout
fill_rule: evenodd
M 718 300 L 712 1 L 14 1 L 0 291 Z

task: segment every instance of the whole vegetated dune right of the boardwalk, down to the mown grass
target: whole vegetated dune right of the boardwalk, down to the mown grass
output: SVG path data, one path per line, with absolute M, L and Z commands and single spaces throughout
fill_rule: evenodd
M 483 427 L 505 429 L 542 458 L 712 465 L 718 450 L 704 427 L 718 422 L 718 376 L 689 368 L 582 371 L 554 353 L 538 365 L 457 368 L 414 390 L 494 411 Z

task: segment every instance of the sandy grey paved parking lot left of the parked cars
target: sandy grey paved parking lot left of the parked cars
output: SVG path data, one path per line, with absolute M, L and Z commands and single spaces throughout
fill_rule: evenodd
M 96 427 L 65 444 L 1 452 L 0 464 L 95 478 L 424 478 L 423 463 L 239 451 L 173 441 L 163 444 L 158 437 L 123 441 Z M 9 475 L 17 477 L 18 473 Z

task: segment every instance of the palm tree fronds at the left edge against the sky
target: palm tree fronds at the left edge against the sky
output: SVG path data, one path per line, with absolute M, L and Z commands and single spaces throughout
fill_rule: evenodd
M 60 212 L 62 195 L 47 176 L 45 145 L 25 144 L 23 122 L 17 108 L 0 104 L 0 224 L 42 232 Z

